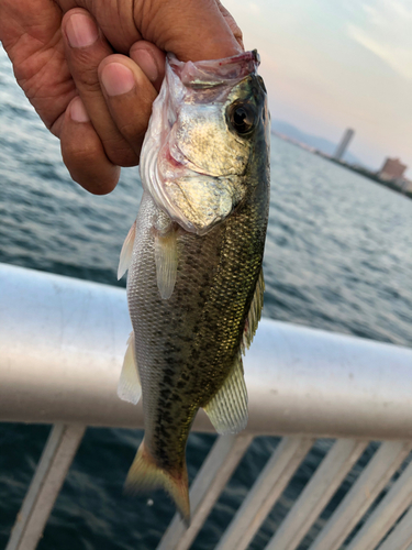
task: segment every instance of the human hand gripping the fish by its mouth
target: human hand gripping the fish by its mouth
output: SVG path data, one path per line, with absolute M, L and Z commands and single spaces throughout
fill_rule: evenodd
M 242 44 L 219 0 L 1 0 L 0 8 L 19 85 L 60 139 L 71 177 L 98 195 L 115 187 L 120 166 L 138 164 L 165 52 L 213 59 Z

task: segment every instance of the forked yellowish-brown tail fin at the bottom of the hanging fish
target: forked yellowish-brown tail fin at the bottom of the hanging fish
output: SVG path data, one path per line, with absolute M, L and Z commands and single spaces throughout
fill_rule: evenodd
M 125 490 L 127 493 L 135 494 L 138 491 L 158 487 L 164 488 L 171 496 L 185 524 L 189 527 L 189 481 L 186 463 L 183 462 L 181 472 L 168 472 L 159 468 L 143 440 L 129 470 Z

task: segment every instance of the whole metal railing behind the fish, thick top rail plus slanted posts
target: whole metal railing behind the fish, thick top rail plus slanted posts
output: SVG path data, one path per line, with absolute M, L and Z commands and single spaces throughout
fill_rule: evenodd
M 142 428 L 116 396 L 130 330 L 124 290 L 0 264 L 0 421 L 54 425 L 7 550 L 36 547 L 86 426 Z M 219 550 L 248 548 L 316 438 L 336 441 L 266 550 L 298 549 L 370 440 L 382 442 L 310 550 L 412 550 L 412 350 L 263 319 L 245 373 L 248 426 L 216 439 L 190 528 L 175 517 L 158 550 L 190 548 L 258 435 L 283 437 Z M 202 413 L 193 429 L 213 431 Z

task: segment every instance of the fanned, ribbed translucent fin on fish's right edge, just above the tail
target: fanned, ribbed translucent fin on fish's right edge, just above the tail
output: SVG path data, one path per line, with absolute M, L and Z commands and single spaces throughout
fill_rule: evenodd
M 204 411 L 220 435 L 237 433 L 247 425 L 247 391 L 241 353 L 223 386 Z

